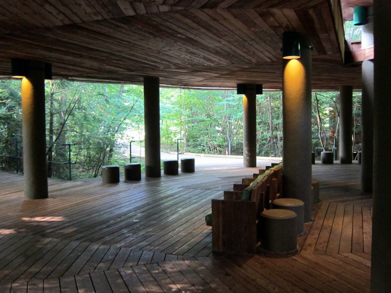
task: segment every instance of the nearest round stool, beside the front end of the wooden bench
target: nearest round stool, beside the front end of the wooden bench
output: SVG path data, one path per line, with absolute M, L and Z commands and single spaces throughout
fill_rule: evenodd
M 259 233 L 261 248 L 277 253 L 297 252 L 296 213 L 288 209 L 261 212 Z

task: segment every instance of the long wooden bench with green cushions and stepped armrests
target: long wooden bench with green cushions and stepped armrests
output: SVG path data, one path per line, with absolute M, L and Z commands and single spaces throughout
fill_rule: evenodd
M 252 180 L 250 182 L 250 180 Z M 282 190 L 282 165 L 270 167 L 256 179 L 243 178 L 233 191 L 224 191 L 223 200 L 212 200 L 213 251 L 256 252 L 259 242 L 257 223 L 265 206 L 270 206 Z

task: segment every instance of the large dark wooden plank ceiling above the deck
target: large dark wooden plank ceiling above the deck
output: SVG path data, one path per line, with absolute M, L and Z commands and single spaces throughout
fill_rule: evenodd
M 10 76 L 10 58 L 26 58 L 52 63 L 55 77 L 76 80 L 141 83 L 151 75 L 172 86 L 260 83 L 280 89 L 282 33 L 299 31 L 314 47 L 314 89 L 359 88 L 360 67 L 343 66 L 338 5 L 338 0 L 1 0 L 0 76 Z

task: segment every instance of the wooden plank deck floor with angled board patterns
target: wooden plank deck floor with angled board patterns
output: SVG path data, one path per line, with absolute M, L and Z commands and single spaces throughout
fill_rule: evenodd
M 255 170 L 50 180 L 35 201 L 21 175 L 0 172 L 0 293 L 369 292 L 371 196 L 356 164 L 313 166 L 323 202 L 299 254 L 212 253 L 211 199 Z

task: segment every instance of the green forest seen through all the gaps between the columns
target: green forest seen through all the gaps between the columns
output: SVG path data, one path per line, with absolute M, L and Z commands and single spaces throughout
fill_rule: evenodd
M 108 164 L 129 162 L 129 143 L 143 146 L 143 87 L 55 80 L 45 83 L 48 175 L 68 179 L 100 175 Z M 314 151 L 337 150 L 339 93 L 312 95 Z M 242 96 L 227 90 L 160 89 L 160 139 L 165 152 L 242 155 Z M 361 93 L 353 93 L 354 150 L 361 144 Z M 0 167 L 22 172 L 20 81 L 0 81 Z M 282 156 L 282 93 L 257 96 L 257 154 Z M 134 161 L 143 163 L 135 155 Z M 52 163 L 53 162 L 53 163 Z M 18 164 L 18 166 L 17 166 Z M 143 165 L 143 164 L 142 164 Z

